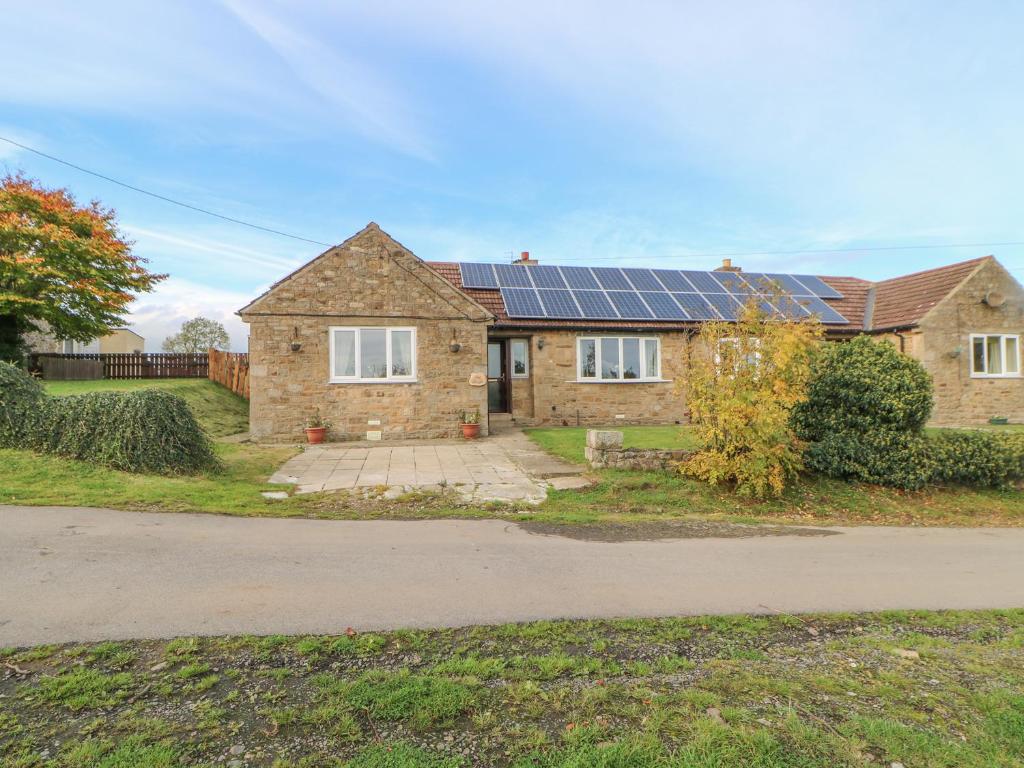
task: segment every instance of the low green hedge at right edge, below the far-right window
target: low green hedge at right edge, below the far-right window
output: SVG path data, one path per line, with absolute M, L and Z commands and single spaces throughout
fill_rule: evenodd
M 1002 487 L 1024 477 L 1024 434 L 943 429 L 929 451 L 935 482 Z

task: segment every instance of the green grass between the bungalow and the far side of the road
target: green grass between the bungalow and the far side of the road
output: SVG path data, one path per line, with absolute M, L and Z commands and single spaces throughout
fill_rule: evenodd
M 97 388 L 170 388 L 185 397 L 208 429 L 224 434 L 245 425 L 247 403 L 212 382 L 197 379 L 53 382 L 53 394 Z M 685 427 L 625 427 L 626 444 L 692 446 Z M 582 460 L 586 430 L 528 430 L 531 439 L 569 460 Z M 394 500 L 345 493 L 268 500 L 264 490 L 289 490 L 266 482 L 294 456 L 296 446 L 218 442 L 224 470 L 195 477 L 119 472 L 94 464 L 0 450 L 0 504 L 76 505 L 168 512 L 210 512 L 253 517 L 324 519 L 429 519 L 497 517 L 583 530 L 631 528 L 623 536 L 671 535 L 692 521 L 803 524 L 1022 525 L 1024 494 L 1013 490 L 942 488 L 905 493 L 826 478 L 808 478 L 783 498 L 758 502 L 728 488 L 671 472 L 596 471 L 595 483 L 553 490 L 538 507 L 467 506 L 454 493 L 410 494 Z M 668 530 L 667 530 L 668 528 Z

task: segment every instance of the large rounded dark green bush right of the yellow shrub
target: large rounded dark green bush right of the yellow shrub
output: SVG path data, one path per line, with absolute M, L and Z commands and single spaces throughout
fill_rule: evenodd
M 895 346 L 858 336 L 826 344 L 807 389 L 794 411 L 804 440 L 877 430 L 919 432 L 932 413 L 932 378 Z

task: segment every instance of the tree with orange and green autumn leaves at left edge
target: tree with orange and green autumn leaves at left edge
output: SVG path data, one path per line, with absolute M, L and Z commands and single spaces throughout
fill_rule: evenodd
M 134 294 L 166 276 L 131 247 L 98 202 L 22 174 L 0 179 L 0 359 L 18 359 L 22 334 L 41 324 L 76 341 L 123 325 Z

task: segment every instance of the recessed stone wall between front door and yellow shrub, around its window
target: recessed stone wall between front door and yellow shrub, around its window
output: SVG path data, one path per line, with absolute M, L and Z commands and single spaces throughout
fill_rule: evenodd
M 512 415 L 520 424 L 534 425 L 612 425 L 685 424 L 685 371 L 689 354 L 689 336 L 682 332 L 612 334 L 657 336 L 662 340 L 662 377 L 659 382 L 580 382 L 577 381 L 575 331 L 535 332 L 530 339 L 529 382 L 531 397 L 517 397 L 513 382 Z M 543 347 L 542 347 L 543 341 Z M 523 381 L 523 380 L 519 380 Z M 520 410 L 531 406 L 532 413 Z

